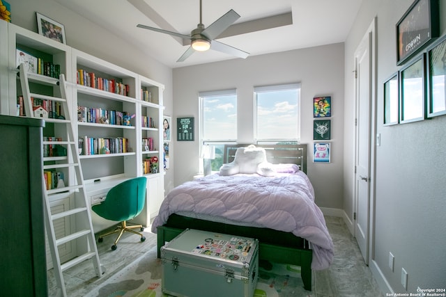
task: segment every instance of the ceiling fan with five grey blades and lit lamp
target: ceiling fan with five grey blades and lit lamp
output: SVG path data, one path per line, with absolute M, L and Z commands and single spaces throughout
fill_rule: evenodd
M 180 56 L 177 62 L 185 61 L 185 59 L 192 55 L 194 51 L 207 51 L 208 49 L 221 51 L 225 54 L 230 54 L 231 56 L 236 56 L 238 58 L 246 58 L 247 56 L 249 56 L 249 53 L 247 53 L 246 51 L 236 49 L 235 47 L 225 45 L 224 43 L 215 40 L 215 38 L 217 38 L 218 35 L 228 29 L 229 26 L 233 24 L 233 22 L 236 22 L 236 20 L 240 17 L 238 13 L 231 9 L 222 17 L 220 17 L 220 19 L 217 19 L 215 22 L 213 22 L 213 24 L 210 24 L 210 26 L 206 28 L 202 22 L 201 10 L 202 8 L 200 0 L 200 23 L 197 25 L 197 29 L 192 30 L 190 35 L 158 29 L 142 24 L 138 24 L 137 27 L 189 39 L 190 47 L 185 51 L 183 56 Z

